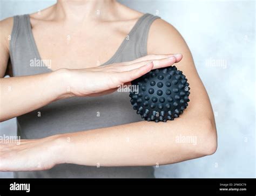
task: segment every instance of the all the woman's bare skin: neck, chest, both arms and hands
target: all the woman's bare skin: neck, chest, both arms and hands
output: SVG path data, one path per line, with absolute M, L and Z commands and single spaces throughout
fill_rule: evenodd
M 100 10 L 100 15 L 95 14 L 96 8 Z M 1 144 L 0 171 L 45 170 L 60 163 L 91 166 L 98 163 L 100 166 L 163 165 L 215 152 L 217 131 L 211 103 L 190 50 L 173 26 L 161 19 L 153 22 L 147 44 L 147 52 L 153 55 L 97 67 L 98 62 L 103 64 L 111 58 L 141 16 L 142 13 L 114 1 L 58 1 L 56 5 L 41 11 L 41 15 L 32 14 L 32 31 L 39 53 L 42 59 L 52 60 L 53 72 L 0 79 L 0 120 L 8 120 L 69 96 L 112 93 L 121 83 L 130 82 L 151 69 L 174 63 L 190 82 L 191 102 L 185 113 L 172 122 L 136 122 L 22 140 L 20 145 Z M 3 32 L 0 38 L 3 46 L 0 47 L 0 74 L 3 77 L 9 58 L 6 38 L 11 33 L 12 18 L 3 20 L 0 28 Z M 46 28 L 50 34 L 42 31 Z M 62 35 L 59 32 L 63 32 Z M 70 36 L 70 41 L 66 36 Z M 46 41 L 49 39 L 51 41 Z M 93 80 L 96 75 L 101 75 L 101 82 Z M 29 85 L 36 81 L 39 81 L 36 85 Z M 46 85 L 50 87 L 47 90 Z M 14 89 L 11 93 L 8 86 Z M 67 87 L 70 87 L 70 91 L 66 90 Z M 177 143 L 175 138 L 180 134 L 196 136 L 197 145 Z M 127 138 L 129 142 L 126 142 Z

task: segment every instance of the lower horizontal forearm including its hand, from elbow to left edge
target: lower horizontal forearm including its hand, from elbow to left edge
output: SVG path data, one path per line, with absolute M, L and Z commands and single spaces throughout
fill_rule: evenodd
M 0 145 L 0 171 L 47 170 L 57 164 L 163 165 L 211 155 L 217 148 L 214 120 L 176 118 L 24 139 Z

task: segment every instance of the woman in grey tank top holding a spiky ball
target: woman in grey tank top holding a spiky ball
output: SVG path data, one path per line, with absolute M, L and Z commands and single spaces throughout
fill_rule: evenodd
M 22 138 L 0 145 L 1 171 L 19 171 L 17 178 L 152 178 L 152 166 L 217 149 L 211 103 L 190 50 L 159 17 L 116 1 L 59 0 L 0 26 L 0 120 L 17 116 Z M 115 92 L 173 64 L 191 87 L 190 106 L 174 121 L 146 122 L 127 93 Z M 14 77 L 3 78 L 6 69 Z M 196 136 L 197 145 L 176 142 L 180 135 Z

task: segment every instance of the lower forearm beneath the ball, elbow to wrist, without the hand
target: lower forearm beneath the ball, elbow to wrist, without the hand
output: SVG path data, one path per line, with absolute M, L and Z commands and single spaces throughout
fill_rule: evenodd
M 60 135 L 60 163 L 90 166 L 163 165 L 214 153 L 210 119 L 180 117 L 167 123 L 136 122 Z

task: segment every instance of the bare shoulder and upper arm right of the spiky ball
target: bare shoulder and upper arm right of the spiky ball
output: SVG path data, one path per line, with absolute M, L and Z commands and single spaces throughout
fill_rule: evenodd
M 164 20 L 155 20 L 150 28 L 147 52 L 149 54 L 183 54 L 183 59 L 175 64 L 186 75 L 191 88 L 190 103 L 183 116 L 197 116 L 202 120 L 208 118 L 215 127 L 210 99 L 194 66 L 191 52 L 180 33 Z

